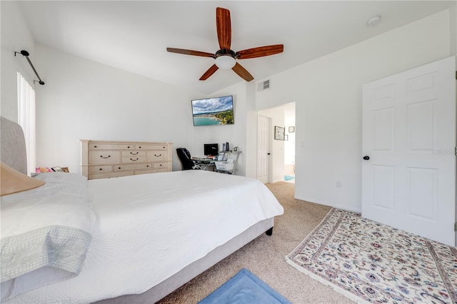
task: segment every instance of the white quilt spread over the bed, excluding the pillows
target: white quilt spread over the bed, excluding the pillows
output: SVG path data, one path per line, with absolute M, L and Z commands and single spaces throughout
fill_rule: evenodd
M 178 171 L 88 181 L 96 213 L 81 273 L 14 298 L 90 303 L 143 293 L 283 208 L 253 178 Z

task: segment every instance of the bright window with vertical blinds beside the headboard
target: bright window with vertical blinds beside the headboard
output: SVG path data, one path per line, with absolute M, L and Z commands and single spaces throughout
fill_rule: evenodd
M 18 123 L 26 138 L 27 172 L 35 172 L 36 132 L 35 132 L 35 91 L 26 79 L 17 74 Z

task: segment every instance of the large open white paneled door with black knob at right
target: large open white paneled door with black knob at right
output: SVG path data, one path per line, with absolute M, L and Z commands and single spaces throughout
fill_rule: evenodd
M 363 86 L 362 216 L 456 245 L 456 57 Z

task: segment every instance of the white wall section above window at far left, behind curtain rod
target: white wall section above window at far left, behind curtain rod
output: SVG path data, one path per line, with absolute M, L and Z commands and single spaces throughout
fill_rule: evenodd
M 15 51 L 29 51 L 32 64 L 36 62 L 35 43 L 16 1 L 0 1 L 1 10 L 1 116 L 17 121 L 17 72 L 34 86 L 37 80 L 29 62 Z M 41 77 L 41 75 L 40 75 Z M 39 86 L 39 84 L 37 84 Z

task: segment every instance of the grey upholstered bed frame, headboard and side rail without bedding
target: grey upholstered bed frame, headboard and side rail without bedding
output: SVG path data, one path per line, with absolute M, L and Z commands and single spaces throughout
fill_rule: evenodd
M 26 173 L 26 145 L 22 128 L 14 121 L 10 121 L 4 117 L 0 119 L 1 161 L 11 166 L 11 168 Z M 257 238 L 262 233 L 265 232 L 267 235 L 271 235 L 273 233 L 273 226 L 274 218 L 268 218 L 256 223 L 243 233 L 224 243 L 224 245 L 211 250 L 204 258 L 196 260 L 194 263 L 181 269 L 179 273 L 172 275 L 144 293 L 138 295 L 121 295 L 117 298 L 101 300 L 96 303 L 155 303 L 192 278 L 211 268 L 214 264 L 231 255 L 231 253 L 234 253 L 243 247 L 243 245 L 251 242 L 251 240 Z

